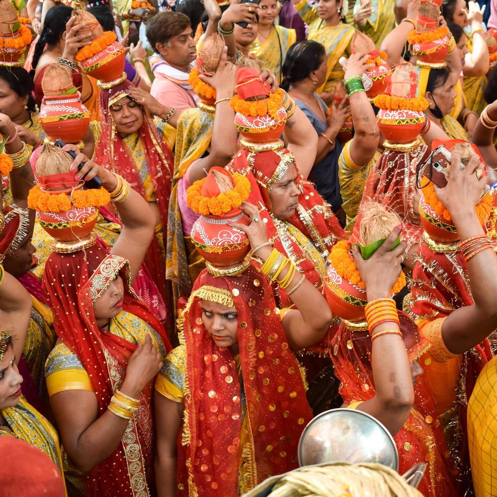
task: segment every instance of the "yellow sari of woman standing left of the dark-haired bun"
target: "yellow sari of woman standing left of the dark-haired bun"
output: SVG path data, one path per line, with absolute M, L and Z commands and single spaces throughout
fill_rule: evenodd
M 281 83 L 281 68 L 287 57 L 290 47 L 297 41 L 295 29 L 288 29 L 283 26 L 274 25 L 268 39 L 260 43 L 256 38 L 249 48 L 254 54 L 263 69 L 268 69 L 276 75 L 276 79 Z

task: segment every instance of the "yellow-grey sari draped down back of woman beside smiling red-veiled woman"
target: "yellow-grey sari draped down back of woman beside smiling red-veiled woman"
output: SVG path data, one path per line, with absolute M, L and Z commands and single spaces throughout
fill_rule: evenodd
M 167 216 L 166 279 L 173 285 L 175 297 L 181 287 L 189 292 L 198 273 L 203 269 L 203 258 L 196 252 L 189 236 L 183 233 L 180 206 L 177 201 L 178 181 L 185 175 L 193 161 L 201 158 L 210 146 L 214 109 L 201 107 L 186 109 L 176 126 L 174 148 L 174 177 Z

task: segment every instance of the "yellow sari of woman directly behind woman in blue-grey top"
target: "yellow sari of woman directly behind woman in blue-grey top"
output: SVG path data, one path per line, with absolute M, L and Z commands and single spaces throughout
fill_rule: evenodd
M 343 22 L 336 26 L 325 26 L 323 20 L 318 17 L 316 9 L 308 4 L 307 0 L 301 0 L 295 8 L 302 20 L 309 26 L 307 39 L 321 43 L 326 49 L 328 57 L 326 82 L 316 91 L 317 93 L 334 91 L 337 82 L 344 76 L 342 66 L 338 61 L 342 55 L 348 57 L 351 54 L 350 41 L 356 30 Z

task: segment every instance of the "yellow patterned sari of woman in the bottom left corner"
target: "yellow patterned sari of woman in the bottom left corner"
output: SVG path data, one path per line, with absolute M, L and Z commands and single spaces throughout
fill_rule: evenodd
M 4 416 L 12 433 L 0 430 L 0 436 L 15 436 L 19 440 L 37 447 L 53 460 L 63 476 L 59 437 L 54 427 L 44 416 L 34 409 L 22 395 L 16 406 L 2 409 L 2 416 Z

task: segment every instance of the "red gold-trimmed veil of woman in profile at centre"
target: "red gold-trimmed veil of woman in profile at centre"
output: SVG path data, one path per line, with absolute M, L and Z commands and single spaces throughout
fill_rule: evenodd
M 264 152 L 251 152 L 242 149 L 237 152 L 227 167 L 232 172 L 243 174 L 251 182 L 252 192 L 248 197 L 248 202 L 257 205 L 259 208 L 263 206 L 271 213 L 269 192 L 272 185 L 285 175 L 292 163 L 295 164 L 295 158 L 285 147 Z M 297 184 L 301 192 L 299 204 L 295 214 L 287 221 L 298 228 L 326 260 L 331 247 L 338 240 L 345 238 L 345 233 L 330 206 L 317 193 L 312 183 L 299 175 Z M 276 224 L 280 224 L 281 221 L 273 216 L 269 216 L 267 219 L 266 229 L 268 236 L 270 238 L 277 236 Z M 305 274 L 306 278 L 314 286 L 321 287 L 321 277 L 315 270 L 314 264 L 290 236 L 277 236 L 274 240 L 274 247 L 287 254 L 294 263 L 299 261 L 297 263 L 299 271 Z M 292 305 L 285 290 L 279 288 L 278 295 L 281 306 Z

